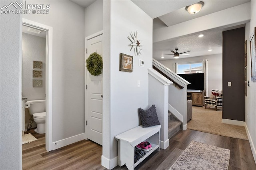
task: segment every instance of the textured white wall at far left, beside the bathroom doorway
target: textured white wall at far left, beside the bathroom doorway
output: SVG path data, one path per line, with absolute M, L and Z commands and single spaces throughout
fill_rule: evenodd
M 20 3 L 20 1 L 17 1 Z M 0 1 L 0 6 L 10 1 Z M 21 15 L 0 15 L 0 169 L 22 169 Z

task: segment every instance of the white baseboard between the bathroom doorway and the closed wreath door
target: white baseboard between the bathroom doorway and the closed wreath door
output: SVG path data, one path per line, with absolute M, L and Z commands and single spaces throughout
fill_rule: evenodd
M 71 136 L 69 138 L 66 139 L 62 139 L 62 140 L 58 140 L 56 142 L 52 142 L 52 150 L 61 148 L 63 146 L 67 146 L 69 144 L 72 144 L 74 142 L 78 142 L 80 140 L 84 140 L 84 133 L 75 135 L 75 136 Z

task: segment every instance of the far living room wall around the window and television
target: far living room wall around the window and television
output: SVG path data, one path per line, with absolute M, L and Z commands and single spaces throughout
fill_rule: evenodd
M 208 59 L 208 90 L 210 94 L 212 89 L 222 89 L 222 54 L 188 57 L 184 59 L 170 59 L 159 62 L 172 70 L 172 63 L 174 62 L 186 63 L 202 61 L 203 59 Z

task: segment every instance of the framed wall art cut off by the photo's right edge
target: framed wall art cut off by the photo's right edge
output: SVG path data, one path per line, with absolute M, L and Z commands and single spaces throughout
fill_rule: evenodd
M 251 81 L 256 81 L 256 46 L 255 46 L 255 30 L 254 28 L 253 34 L 250 36 L 250 52 L 251 52 L 251 66 L 252 66 L 252 75 Z

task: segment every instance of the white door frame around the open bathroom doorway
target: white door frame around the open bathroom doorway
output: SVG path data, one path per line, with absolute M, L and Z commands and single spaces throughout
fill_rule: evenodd
M 22 18 L 22 25 L 46 31 L 46 135 L 45 146 L 52 150 L 52 27 Z M 20 84 L 21 86 L 21 84 Z

